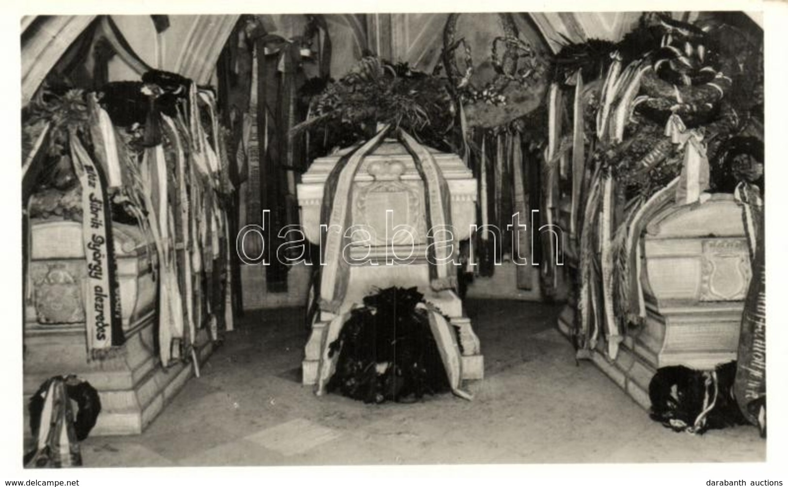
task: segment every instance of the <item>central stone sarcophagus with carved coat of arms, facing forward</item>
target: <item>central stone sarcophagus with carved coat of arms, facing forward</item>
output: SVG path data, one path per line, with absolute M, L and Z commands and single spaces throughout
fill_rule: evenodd
M 320 225 L 323 195 L 337 162 L 351 149 L 316 159 L 298 186 L 303 231 L 310 242 L 321 245 Z M 470 169 L 455 154 L 429 149 L 448 188 L 451 236 L 446 240 L 459 248 L 459 242 L 470 237 L 475 223 L 476 180 Z M 318 311 L 305 348 L 303 384 L 318 380 L 322 349 L 327 340 L 326 329 L 336 314 L 345 313 L 362 303 L 377 289 L 390 286 L 418 287 L 459 329 L 462 350 L 463 379 L 483 376 L 483 359 L 478 338 L 470 320 L 463 313 L 463 303 L 453 289 L 436 291 L 430 285 L 428 262 L 429 229 L 426 217 L 429 204 L 425 201 L 425 182 L 414 158 L 397 139 L 384 139 L 363 158 L 353 177 L 348 193 L 350 223 L 354 229 L 346 247 L 348 266 L 347 288 L 336 313 Z M 343 229 L 344 231 L 345 229 Z M 311 296 L 310 300 L 320 296 Z

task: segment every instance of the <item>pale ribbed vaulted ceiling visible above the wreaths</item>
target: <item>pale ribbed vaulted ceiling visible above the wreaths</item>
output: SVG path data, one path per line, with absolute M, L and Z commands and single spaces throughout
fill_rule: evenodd
M 585 39 L 619 40 L 640 16 L 639 12 L 526 13 L 550 50 L 559 49 L 564 38 L 574 42 Z M 408 19 L 407 16 L 411 16 Z M 431 16 L 431 17 L 430 17 Z M 337 43 L 350 46 L 346 57 L 358 57 L 369 47 L 381 55 L 411 62 L 429 69 L 437 60 L 430 39 L 440 37 L 441 20 L 446 14 L 330 14 L 325 15 Z M 24 17 L 21 22 L 22 103 L 26 105 L 50 69 L 69 46 L 95 20 L 96 16 Z M 126 69 L 128 79 L 136 78 L 147 66 L 178 72 L 199 84 L 210 83 L 222 47 L 239 15 L 169 16 L 164 32 L 154 28 L 151 16 L 113 16 L 105 26 L 110 38 L 124 44 L 134 54 L 115 61 Z M 267 16 L 273 24 L 281 17 Z M 291 16 L 292 17 L 292 16 Z M 417 18 L 418 17 L 418 18 Z M 750 17 L 760 24 L 760 18 Z M 388 31 L 385 23 L 388 22 Z M 522 21 L 520 22 L 522 24 Z M 530 22 L 528 24 L 531 24 Z M 286 28 L 286 26 L 280 26 Z M 383 28 L 381 30 L 381 28 Z M 522 27 L 521 27 L 522 30 Z M 389 36 L 388 52 L 381 51 L 381 32 Z M 427 39 L 430 38 L 430 39 Z M 332 39 L 334 42 L 334 39 Z M 432 43 L 434 44 L 434 43 Z M 342 55 L 333 64 L 345 62 Z M 345 62 L 347 64 L 347 62 Z M 334 66 L 332 66 L 334 68 Z M 336 76 L 335 70 L 332 72 Z

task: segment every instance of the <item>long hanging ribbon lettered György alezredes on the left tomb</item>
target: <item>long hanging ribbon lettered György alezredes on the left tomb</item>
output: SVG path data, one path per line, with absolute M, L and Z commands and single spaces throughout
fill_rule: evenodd
M 85 322 L 92 359 L 123 344 L 121 303 L 115 277 L 112 218 L 102 168 L 95 165 L 76 133 L 69 136 L 74 172 L 82 186 L 82 237 L 87 261 Z

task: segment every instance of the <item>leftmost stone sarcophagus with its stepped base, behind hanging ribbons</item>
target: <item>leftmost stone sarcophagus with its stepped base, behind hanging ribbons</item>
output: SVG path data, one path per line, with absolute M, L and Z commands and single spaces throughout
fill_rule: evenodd
M 99 391 L 102 411 L 92 436 L 142 433 L 193 374 L 191 361 L 162 369 L 154 352 L 156 283 L 148 243 L 136 227 L 113 224 L 125 344 L 117 355 L 87 361 L 82 281 L 82 224 L 33 221 L 32 300 L 24 323 L 24 411 L 49 377 L 76 374 Z M 201 329 L 197 355 L 213 344 Z M 25 419 L 25 434 L 29 435 Z

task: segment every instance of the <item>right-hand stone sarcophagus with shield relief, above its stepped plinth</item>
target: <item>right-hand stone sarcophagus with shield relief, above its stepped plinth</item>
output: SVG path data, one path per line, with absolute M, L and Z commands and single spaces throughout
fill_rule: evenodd
M 723 194 L 671 206 L 643 239 L 646 322 L 634 340 L 637 355 L 655 368 L 735 360 L 752 277 L 742 207 Z

